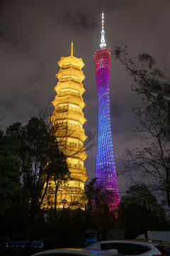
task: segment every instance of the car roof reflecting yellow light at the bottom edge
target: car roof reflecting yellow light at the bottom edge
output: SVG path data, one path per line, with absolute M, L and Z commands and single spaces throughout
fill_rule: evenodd
M 68 248 L 68 249 L 53 249 L 53 250 L 45 250 L 42 252 L 38 252 L 33 254 L 32 256 L 119 256 L 118 253 L 115 252 L 104 252 L 98 250 L 88 250 L 81 248 Z

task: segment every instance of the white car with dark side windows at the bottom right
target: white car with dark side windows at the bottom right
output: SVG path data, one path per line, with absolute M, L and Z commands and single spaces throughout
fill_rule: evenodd
M 165 256 L 159 244 L 130 240 L 107 240 L 94 242 L 86 247 L 91 250 L 118 250 L 122 255 Z

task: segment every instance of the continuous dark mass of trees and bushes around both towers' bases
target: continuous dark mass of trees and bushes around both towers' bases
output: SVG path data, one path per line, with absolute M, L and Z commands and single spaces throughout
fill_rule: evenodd
M 42 137 L 43 143 L 47 143 L 44 148 Z M 86 210 L 53 208 L 44 211 L 40 208 L 40 203 L 45 193 L 45 181 L 50 175 L 56 181 L 68 175 L 65 171 L 65 158 L 55 143 L 49 137 L 44 122 L 35 117 L 25 127 L 16 123 L 8 127 L 5 134 L 1 132 L 1 156 L 8 157 L 9 154 L 14 159 L 10 162 L 9 169 L 8 161 L 1 165 L 4 168 L 1 167 L 1 170 L 8 170 L 1 171 L 1 176 L 4 177 L 1 179 L 4 180 L 1 188 L 5 188 L 1 189 L 1 196 L 6 201 L 1 204 L 1 235 L 10 236 L 11 240 L 44 239 L 46 247 L 79 247 L 84 246 L 87 229 L 123 228 L 127 238 L 135 238 L 148 229 L 169 228 L 164 208 L 146 186 L 140 185 L 132 186 L 126 191 L 116 215 L 108 208 L 107 191 L 96 187 L 95 179 L 86 185 Z M 54 149 L 49 150 L 49 144 Z M 37 151 L 39 146 L 41 149 Z M 47 165 L 47 162 L 50 164 Z M 62 171 L 64 176 L 61 176 Z M 10 178 L 11 190 L 8 185 Z

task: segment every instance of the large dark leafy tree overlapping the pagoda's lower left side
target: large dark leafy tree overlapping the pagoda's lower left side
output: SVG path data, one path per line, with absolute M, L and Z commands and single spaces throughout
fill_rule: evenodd
M 16 208 L 28 215 L 30 240 L 35 216 L 40 213 L 50 179 L 57 181 L 60 177 L 60 180 L 65 180 L 69 170 L 55 135 L 43 119 L 32 117 L 24 127 L 19 123 L 12 124 L 6 129 L 6 136 L 17 137 L 20 145 L 17 159 L 21 191 Z

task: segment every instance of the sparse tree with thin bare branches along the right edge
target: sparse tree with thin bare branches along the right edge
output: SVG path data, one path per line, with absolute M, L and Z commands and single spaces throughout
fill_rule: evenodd
M 142 107 L 133 112 L 138 120 L 135 132 L 143 134 L 143 142 L 125 150 L 124 172 L 141 171 L 143 181 L 161 192 L 170 208 L 170 80 L 147 53 L 129 58 L 127 48 L 118 46 L 114 54 L 132 76 L 132 91 L 142 99 Z

